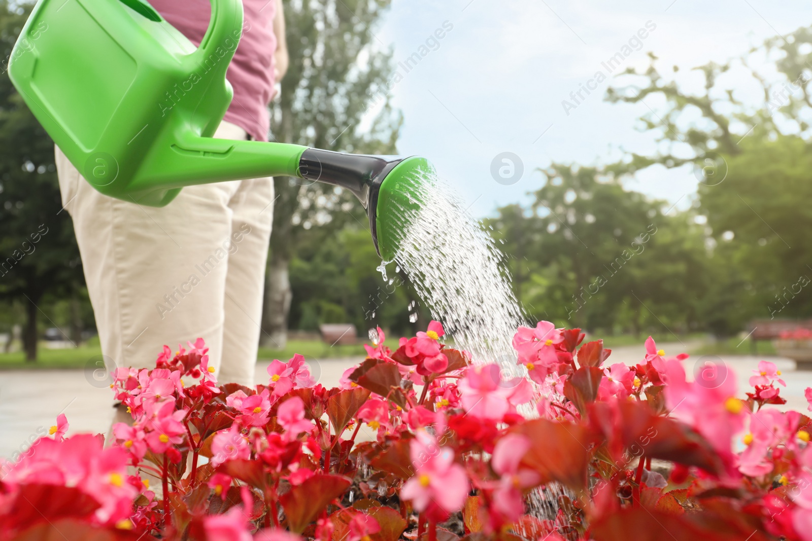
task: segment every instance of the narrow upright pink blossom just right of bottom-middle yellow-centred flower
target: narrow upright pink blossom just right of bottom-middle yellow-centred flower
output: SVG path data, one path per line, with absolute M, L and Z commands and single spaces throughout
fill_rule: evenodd
M 519 468 L 519 462 L 530 446 L 527 436 L 508 434 L 496 442 L 490 459 L 490 466 L 501 476 L 494 491 L 493 507 L 506 522 L 516 522 L 525 513 L 522 489 L 533 487 L 541 480 L 535 471 Z

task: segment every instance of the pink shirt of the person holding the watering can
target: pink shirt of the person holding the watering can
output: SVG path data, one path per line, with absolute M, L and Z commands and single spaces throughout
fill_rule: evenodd
M 209 28 L 209 0 L 149 0 L 167 22 L 200 45 Z M 243 0 L 243 36 L 228 67 L 226 79 L 234 99 L 225 118 L 259 141 L 268 140 L 267 105 L 274 94 L 275 0 Z

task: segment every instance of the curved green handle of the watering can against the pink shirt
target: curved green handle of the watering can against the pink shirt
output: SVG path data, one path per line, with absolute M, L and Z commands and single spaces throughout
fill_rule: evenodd
M 214 73 L 225 73 L 243 33 L 242 0 L 211 0 L 209 28 L 200 47 L 189 55 L 196 65 L 214 59 Z M 219 51 L 219 52 L 218 52 Z

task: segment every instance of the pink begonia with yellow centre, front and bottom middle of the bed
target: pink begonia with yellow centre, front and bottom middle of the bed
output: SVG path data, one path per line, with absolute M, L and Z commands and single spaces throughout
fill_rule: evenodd
M 409 444 L 412 465 L 416 474 L 404 483 L 400 497 L 412 500 L 418 513 L 430 504 L 438 505 L 447 513 L 462 509 L 470 485 L 464 467 L 454 462 L 454 451 L 439 447 L 428 432 L 417 432 Z

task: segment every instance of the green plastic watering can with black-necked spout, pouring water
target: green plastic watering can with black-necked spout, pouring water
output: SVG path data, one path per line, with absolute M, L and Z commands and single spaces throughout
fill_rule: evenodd
M 212 0 L 196 48 L 140 0 L 41 0 L 8 71 L 54 142 L 105 195 L 162 207 L 193 184 L 328 182 L 361 200 L 378 254 L 394 259 L 395 217 L 419 207 L 421 178 L 432 170 L 425 158 L 212 137 L 231 103 L 226 70 L 242 27 L 241 0 Z

